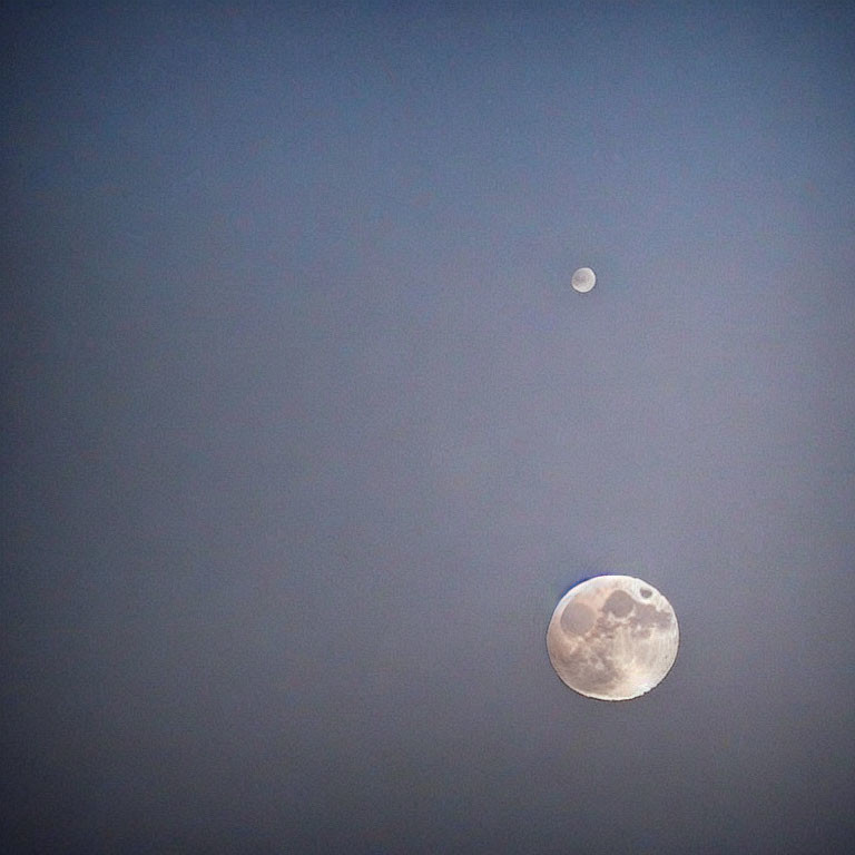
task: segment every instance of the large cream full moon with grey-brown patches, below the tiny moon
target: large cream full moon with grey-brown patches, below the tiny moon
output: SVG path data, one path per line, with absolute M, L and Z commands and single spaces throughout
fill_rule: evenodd
M 671 603 L 631 576 L 596 576 L 573 586 L 547 630 L 558 676 L 598 700 L 629 700 L 658 686 L 679 640 Z

